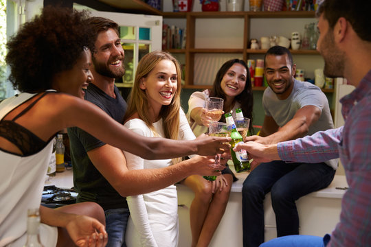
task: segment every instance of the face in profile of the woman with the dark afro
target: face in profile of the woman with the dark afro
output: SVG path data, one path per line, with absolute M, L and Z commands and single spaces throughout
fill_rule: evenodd
M 54 77 L 53 89 L 84 99 L 84 89 L 87 89 L 88 82 L 93 78 L 90 66 L 91 53 L 87 49 L 82 51 L 80 58 L 72 69 L 60 72 Z

